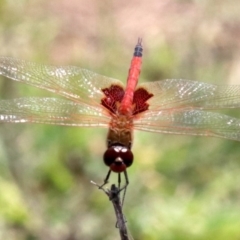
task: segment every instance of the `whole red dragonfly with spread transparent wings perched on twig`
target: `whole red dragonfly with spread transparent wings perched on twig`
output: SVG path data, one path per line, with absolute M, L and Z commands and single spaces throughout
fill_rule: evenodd
M 142 63 L 141 39 L 135 47 L 127 85 L 79 67 L 53 67 L 0 57 L 0 75 L 54 92 L 62 98 L 0 101 L 0 122 L 46 123 L 108 128 L 103 155 L 109 172 L 119 176 L 133 163 L 132 132 L 220 137 L 240 141 L 240 120 L 215 109 L 239 108 L 240 86 L 217 86 L 167 79 L 137 86 Z M 103 185 L 104 185 L 103 184 Z

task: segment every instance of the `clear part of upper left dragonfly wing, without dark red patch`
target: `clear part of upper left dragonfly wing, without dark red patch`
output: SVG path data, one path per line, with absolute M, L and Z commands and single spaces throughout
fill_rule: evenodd
M 101 103 L 103 88 L 111 84 L 122 86 L 119 80 L 86 69 L 53 67 L 6 57 L 0 57 L 0 75 L 90 105 Z

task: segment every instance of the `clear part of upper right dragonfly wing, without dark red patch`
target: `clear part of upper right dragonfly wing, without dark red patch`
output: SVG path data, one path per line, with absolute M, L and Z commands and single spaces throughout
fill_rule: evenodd
M 240 107 L 240 86 L 213 85 L 184 79 L 142 83 L 153 94 L 149 109 L 224 109 Z

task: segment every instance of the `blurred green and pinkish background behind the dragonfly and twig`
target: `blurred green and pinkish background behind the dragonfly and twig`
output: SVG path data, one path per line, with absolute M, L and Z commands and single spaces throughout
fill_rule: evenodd
M 239 10 L 238 0 L 1 0 L 0 55 L 125 81 L 142 37 L 141 81 L 240 84 Z M 49 96 L 2 77 L 0 94 Z M 90 184 L 107 173 L 106 132 L 1 124 L 0 239 L 119 239 L 111 204 Z M 240 239 L 239 142 L 136 132 L 133 152 L 133 239 Z

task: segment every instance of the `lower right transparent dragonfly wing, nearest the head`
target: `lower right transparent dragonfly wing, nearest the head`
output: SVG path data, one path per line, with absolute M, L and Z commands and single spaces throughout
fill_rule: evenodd
M 202 110 L 146 111 L 134 120 L 138 130 L 212 136 L 240 141 L 240 119 Z

